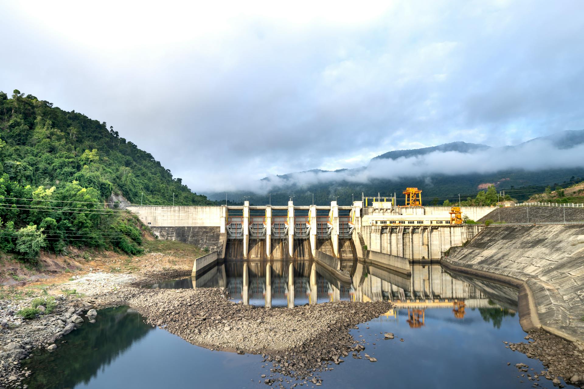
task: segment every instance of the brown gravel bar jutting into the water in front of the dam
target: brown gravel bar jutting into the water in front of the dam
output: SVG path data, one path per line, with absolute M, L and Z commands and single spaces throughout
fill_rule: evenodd
M 130 299 L 148 323 L 211 349 L 263 353 L 273 372 L 296 380 L 363 351 L 348 331 L 387 312 L 391 303 L 333 302 L 294 309 L 244 306 L 218 289 L 154 289 Z M 282 379 L 280 377 L 280 379 Z M 272 381 L 273 382 L 273 381 Z M 270 379 L 266 380 L 270 383 Z

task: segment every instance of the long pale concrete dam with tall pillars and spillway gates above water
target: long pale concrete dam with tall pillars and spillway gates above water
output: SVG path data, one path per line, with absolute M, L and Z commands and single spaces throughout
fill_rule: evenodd
M 294 258 L 295 241 L 310 244 L 312 257 L 322 250 L 343 257 L 343 243 L 353 240 L 357 253 L 363 245 L 379 253 L 412 260 L 439 259 L 453 246 L 477 234 L 481 225 L 451 225 L 449 207 L 394 206 L 373 201 L 363 206 L 141 206 L 128 205 L 160 239 L 180 240 L 219 251 L 224 258 L 228 241 L 248 258 L 250 247 L 261 247 L 265 258 Z M 491 206 L 461 207 L 463 216 L 479 219 Z M 339 243 L 340 242 L 340 243 Z M 261 244 L 258 244 L 261 243 Z M 258 253 L 256 253 L 258 254 Z M 256 255 L 255 254 L 255 255 Z

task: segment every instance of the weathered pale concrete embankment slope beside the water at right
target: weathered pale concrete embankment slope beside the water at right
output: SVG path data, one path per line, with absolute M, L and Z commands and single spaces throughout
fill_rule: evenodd
M 441 262 L 516 286 L 524 330 L 584 341 L 584 225 L 491 226 Z

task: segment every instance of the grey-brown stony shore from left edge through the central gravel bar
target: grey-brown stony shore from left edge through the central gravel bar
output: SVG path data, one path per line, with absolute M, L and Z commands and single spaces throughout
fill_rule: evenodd
M 89 274 L 72 282 L 76 290 L 86 294 L 83 299 L 58 297 L 53 313 L 33 320 L 14 320 L 14 316 L 10 316 L 10 329 L 0 330 L 3 350 L 0 352 L 0 387 L 24 388 L 22 380 L 34 372 L 22 370 L 19 360 L 29 356 L 30 350 L 43 348 L 58 352 L 58 339 L 79 325 L 91 325 L 92 317 L 84 316 L 85 311 L 119 305 L 133 307 L 147 318 L 147 323 L 158 325 L 192 344 L 263 354 L 265 362 L 272 363 L 272 371 L 279 376 L 268 377 L 267 384 L 310 380 L 312 384 L 321 385 L 318 372 L 329 369 L 333 363 L 342 363 L 351 353 L 353 358 L 363 358 L 357 353 L 365 346 L 348 331 L 380 316 L 392 306 L 388 302 L 334 302 L 294 309 L 265 309 L 233 303 L 217 288 L 141 287 L 183 275 L 185 271 L 132 276 Z M 9 307 L 2 306 L 0 320 L 8 315 L 9 309 L 16 312 L 27 304 L 29 302 L 23 300 Z

